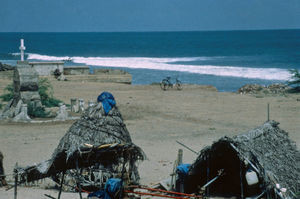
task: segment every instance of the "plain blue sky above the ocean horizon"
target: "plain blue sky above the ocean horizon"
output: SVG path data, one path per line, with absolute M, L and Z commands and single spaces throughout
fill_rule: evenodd
M 0 32 L 299 28 L 300 0 L 0 0 Z

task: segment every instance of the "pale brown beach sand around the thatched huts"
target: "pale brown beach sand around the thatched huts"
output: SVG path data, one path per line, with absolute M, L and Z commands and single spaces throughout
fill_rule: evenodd
M 0 80 L 0 94 L 8 84 Z M 125 85 L 73 81 L 52 81 L 54 96 L 70 104 L 71 98 L 96 100 L 103 91 L 111 92 L 135 144 L 149 160 L 139 165 L 141 184 L 151 185 L 169 176 L 177 151 L 183 148 L 176 140 L 199 151 L 222 136 L 245 133 L 270 119 L 280 122 L 300 146 L 299 94 L 262 96 L 217 92 L 211 86 L 184 85 L 183 90 L 162 91 L 159 85 Z M 0 150 L 4 154 L 6 174 L 14 165 L 28 166 L 49 159 L 60 138 L 74 121 L 21 124 L 0 122 Z M 196 155 L 183 148 L 184 163 Z M 12 177 L 8 181 L 12 183 Z M 49 181 L 50 182 L 50 181 Z M 42 183 L 45 187 L 47 182 Z M 49 185 L 50 186 L 50 185 Z M 41 187 L 19 187 L 18 198 L 57 197 L 58 191 Z M 86 194 L 83 195 L 86 197 Z M 0 188 L 0 199 L 13 198 L 13 189 Z M 79 198 L 76 193 L 63 193 L 62 198 Z

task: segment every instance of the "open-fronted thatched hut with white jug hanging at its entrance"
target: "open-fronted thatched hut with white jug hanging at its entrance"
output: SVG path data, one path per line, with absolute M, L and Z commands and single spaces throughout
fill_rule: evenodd
M 266 122 L 204 148 L 189 169 L 185 192 L 198 192 L 202 187 L 209 196 L 299 198 L 300 152 L 278 124 Z M 221 170 L 224 175 L 203 189 Z M 250 173 L 257 183 L 249 183 Z

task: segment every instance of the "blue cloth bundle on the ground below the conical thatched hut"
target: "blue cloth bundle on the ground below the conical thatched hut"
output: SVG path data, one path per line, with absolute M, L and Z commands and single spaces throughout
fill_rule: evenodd
M 122 181 L 119 178 L 110 178 L 107 180 L 104 186 L 104 190 L 99 190 L 90 193 L 88 197 L 98 197 L 101 199 L 113 199 L 111 196 L 115 194 L 122 188 Z

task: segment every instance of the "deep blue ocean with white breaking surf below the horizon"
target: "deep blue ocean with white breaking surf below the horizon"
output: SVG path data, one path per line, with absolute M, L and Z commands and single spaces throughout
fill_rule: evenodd
M 16 64 L 21 38 L 29 61 L 119 68 L 132 74 L 132 84 L 170 76 L 236 91 L 285 83 L 289 69 L 300 69 L 300 30 L 0 33 L 0 62 Z

